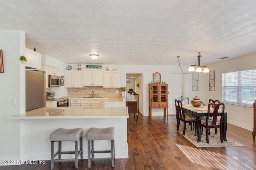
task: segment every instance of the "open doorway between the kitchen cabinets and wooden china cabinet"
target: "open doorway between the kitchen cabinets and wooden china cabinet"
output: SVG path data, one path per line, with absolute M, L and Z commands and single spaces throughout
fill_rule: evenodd
M 132 89 L 135 93 L 134 98 L 138 102 L 138 110 L 143 115 L 143 73 L 126 73 L 126 94 Z

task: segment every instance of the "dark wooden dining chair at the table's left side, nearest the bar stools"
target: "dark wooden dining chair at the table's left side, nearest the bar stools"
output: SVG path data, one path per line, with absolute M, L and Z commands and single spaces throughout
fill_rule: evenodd
M 185 113 L 184 112 L 181 100 L 176 100 L 175 99 L 175 106 L 176 107 L 178 106 L 178 109 L 176 109 L 176 110 L 178 110 L 177 131 L 179 130 L 179 127 L 180 127 L 180 121 L 183 121 L 183 134 L 182 135 L 185 135 L 186 123 L 191 123 L 190 124 L 190 129 L 192 130 L 192 123 L 193 123 L 193 126 L 195 126 L 196 116 L 194 116 L 190 113 Z M 197 129 L 197 128 L 195 128 L 195 129 Z M 196 136 L 196 132 L 195 132 L 195 136 Z

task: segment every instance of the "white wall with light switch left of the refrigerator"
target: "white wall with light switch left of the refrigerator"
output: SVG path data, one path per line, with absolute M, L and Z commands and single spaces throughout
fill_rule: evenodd
M 25 112 L 25 33 L 0 30 L 4 73 L 0 73 L 0 159 L 20 158 L 20 121 L 9 117 Z M 16 99 L 16 105 L 11 104 Z

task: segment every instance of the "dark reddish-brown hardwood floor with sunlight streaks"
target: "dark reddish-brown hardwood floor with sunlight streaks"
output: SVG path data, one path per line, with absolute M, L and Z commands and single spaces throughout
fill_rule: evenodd
M 128 159 L 115 159 L 112 168 L 108 160 L 92 161 L 91 170 L 255 170 L 256 145 L 252 132 L 228 124 L 227 137 L 246 147 L 196 148 L 169 126 L 176 124 L 175 116 L 139 114 L 128 119 Z M 190 129 L 188 129 L 190 130 Z M 73 170 L 74 162 L 57 162 L 54 170 Z M 79 160 L 78 170 L 88 169 L 88 160 Z M 0 170 L 50 170 L 50 161 L 44 165 L 0 166 Z

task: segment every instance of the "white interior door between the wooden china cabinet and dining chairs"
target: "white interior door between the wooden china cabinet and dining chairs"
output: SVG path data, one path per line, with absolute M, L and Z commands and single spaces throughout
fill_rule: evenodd
M 183 96 L 183 74 L 182 73 L 168 73 L 168 115 L 176 114 L 174 100 Z

